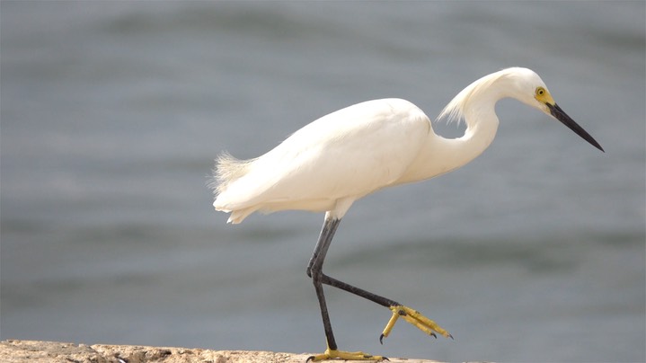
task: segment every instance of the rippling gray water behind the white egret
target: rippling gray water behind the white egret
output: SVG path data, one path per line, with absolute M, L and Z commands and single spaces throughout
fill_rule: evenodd
M 644 361 L 645 3 L 10 2 L 1 10 L 2 339 L 318 352 L 322 214 L 212 210 L 222 150 L 261 155 L 382 97 L 434 118 L 506 66 L 605 147 L 498 105 L 473 163 L 360 200 L 327 289 L 345 350 L 449 361 Z M 464 128 L 436 125 L 447 137 Z

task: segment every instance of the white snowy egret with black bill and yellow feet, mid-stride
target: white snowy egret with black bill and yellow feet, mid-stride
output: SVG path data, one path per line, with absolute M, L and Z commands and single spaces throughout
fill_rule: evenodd
M 544 111 L 604 151 L 554 102 L 534 71 L 512 67 L 468 85 L 439 114 L 438 120 L 464 120 L 467 128 L 463 137 L 440 137 L 417 106 L 401 99 L 384 99 L 361 102 L 314 120 L 260 157 L 237 160 L 226 153 L 219 156 L 211 185 L 217 195 L 213 206 L 231 213 L 228 223 L 240 223 L 256 211 L 325 212 L 307 275 L 314 282 L 321 307 L 327 350 L 311 360 L 383 359 L 360 351 L 338 350 L 323 284 L 392 311 L 379 341 L 388 336 L 400 317 L 422 332 L 452 338 L 410 307 L 325 275 L 323 260 L 341 218 L 357 199 L 385 187 L 448 173 L 482 154 L 496 135 L 499 121 L 495 105 L 503 98 L 514 98 Z

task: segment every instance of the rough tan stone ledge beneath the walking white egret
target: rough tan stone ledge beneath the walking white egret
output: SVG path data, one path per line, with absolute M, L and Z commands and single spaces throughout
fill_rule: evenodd
M 3 363 L 305 363 L 311 353 L 137 345 L 75 344 L 58 341 L 0 341 Z M 392 363 L 431 363 L 425 359 L 390 359 Z

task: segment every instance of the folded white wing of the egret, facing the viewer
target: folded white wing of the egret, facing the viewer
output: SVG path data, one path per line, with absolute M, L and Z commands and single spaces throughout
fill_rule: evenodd
M 217 197 L 235 211 L 329 210 L 395 182 L 418 155 L 429 118 L 399 99 L 362 102 L 306 125 L 247 165 Z M 244 216 L 246 217 L 246 216 Z

